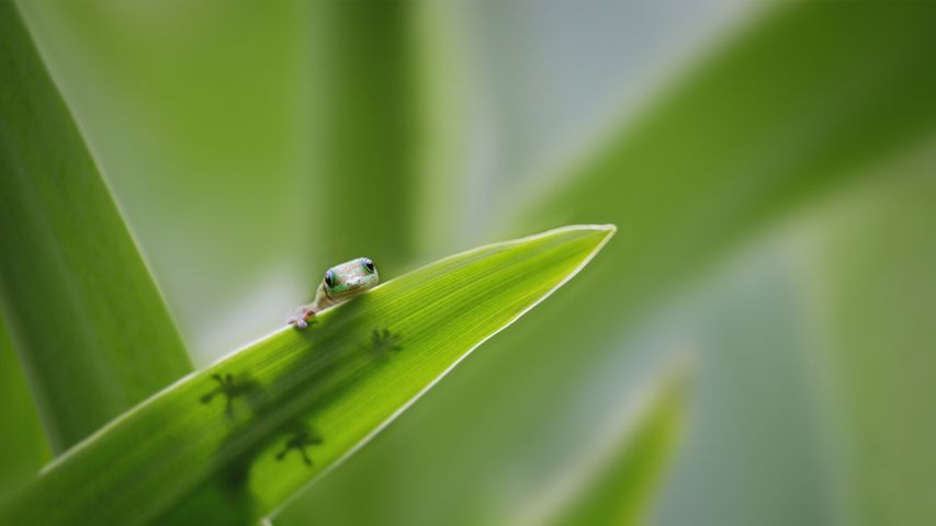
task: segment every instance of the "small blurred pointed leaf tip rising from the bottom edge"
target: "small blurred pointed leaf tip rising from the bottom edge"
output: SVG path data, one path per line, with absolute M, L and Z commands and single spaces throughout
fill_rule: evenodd
M 685 412 L 684 373 L 670 373 L 657 392 L 643 400 L 645 407 L 624 433 L 617 447 L 604 451 L 591 473 L 571 478 L 577 484 L 566 502 L 559 503 L 546 524 L 631 525 L 643 524 L 661 485 L 665 468 L 675 453 Z M 589 466 L 582 462 L 578 469 Z M 595 469 L 597 468 L 597 469 Z

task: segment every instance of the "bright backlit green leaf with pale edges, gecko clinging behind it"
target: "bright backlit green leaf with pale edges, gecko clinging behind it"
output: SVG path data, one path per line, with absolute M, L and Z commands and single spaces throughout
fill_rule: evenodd
M 54 462 L 18 524 L 248 524 L 576 274 L 613 227 L 471 250 L 191 375 Z

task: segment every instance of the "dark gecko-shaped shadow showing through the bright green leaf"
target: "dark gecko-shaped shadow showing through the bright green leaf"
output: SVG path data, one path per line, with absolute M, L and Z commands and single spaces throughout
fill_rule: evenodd
M 178 514 L 167 513 L 159 524 L 190 523 L 180 517 L 188 518 L 188 513 L 201 510 L 199 501 L 203 498 L 214 499 L 230 510 L 259 505 L 255 488 L 266 483 L 260 477 L 273 472 L 266 462 L 279 466 L 284 472 L 314 472 L 319 468 L 322 460 L 316 458 L 316 446 L 325 444 L 327 438 L 312 422 L 364 378 L 368 370 L 392 363 L 392 356 L 403 351 L 401 334 L 391 329 L 369 331 L 366 325 L 361 327 L 358 312 L 366 299 L 358 297 L 343 304 L 327 319 L 318 320 L 315 331 L 300 331 L 306 344 L 284 358 L 291 366 L 262 384 L 250 381 L 246 373 L 221 373 L 213 375 L 212 380 L 203 380 L 210 382 L 211 390 L 200 397 L 201 402 L 219 408 L 221 402 L 215 398 L 224 397 L 225 412 L 237 418 L 230 420 L 232 425 L 215 451 L 216 476 L 184 499 Z M 241 410 L 248 411 L 250 418 L 241 418 Z M 255 471 L 257 466 L 264 468 Z M 205 522 L 224 523 L 211 517 Z

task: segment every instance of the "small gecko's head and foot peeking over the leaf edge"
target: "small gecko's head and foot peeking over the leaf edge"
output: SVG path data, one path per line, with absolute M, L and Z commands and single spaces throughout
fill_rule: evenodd
M 300 329 L 308 327 L 308 319 L 316 312 L 334 307 L 373 288 L 380 283 L 374 262 L 358 258 L 325 271 L 325 277 L 315 291 L 315 300 L 296 309 L 289 319 L 290 324 Z

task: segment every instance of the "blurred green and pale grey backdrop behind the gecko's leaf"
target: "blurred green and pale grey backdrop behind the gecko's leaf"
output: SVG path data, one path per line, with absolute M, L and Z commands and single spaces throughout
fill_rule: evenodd
M 936 522 L 936 7 L 19 5 L 196 366 L 335 262 L 618 225 L 275 524 L 540 524 L 674 364 L 640 521 Z M 49 454 L 9 343 L 14 483 Z

